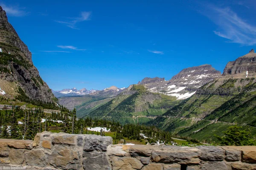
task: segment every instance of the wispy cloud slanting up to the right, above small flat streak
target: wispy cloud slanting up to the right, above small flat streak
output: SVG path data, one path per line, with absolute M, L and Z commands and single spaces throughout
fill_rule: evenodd
M 55 21 L 57 23 L 61 23 L 61 24 L 64 24 L 65 26 L 68 26 L 70 28 L 73 28 L 73 29 L 78 29 L 76 27 L 76 24 L 77 23 L 80 23 L 82 21 L 88 21 L 91 19 L 91 16 L 92 16 L 92 13 L 91 12 L 88 12 L 88 11 L 83 11 L 81 12 L 80 14 L 80 17 L 76 17 L 76 18 L 67 18 L 67 20 L 65 21 Z

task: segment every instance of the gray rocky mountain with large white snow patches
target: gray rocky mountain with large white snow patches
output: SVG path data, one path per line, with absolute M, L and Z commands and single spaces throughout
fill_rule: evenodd
M 153 79 L 145 78 L 139 83 L 145 85 L 151 92 L 175 96 L 177 99 L 186 99 L 195 94 L 198 88 L 218 77 L 221 77 L 221 72 L 206 64 L 185 68 L 169 81 L 155 77 Z

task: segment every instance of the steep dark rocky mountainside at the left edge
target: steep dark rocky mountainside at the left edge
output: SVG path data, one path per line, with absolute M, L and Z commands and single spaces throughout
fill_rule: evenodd
M 52 102 L 54 95 L 32 63 L 31 52 L 8 22 L 0 7 L 0 88 L 3 96 L 15 98 L 20 87 L 30 98 Z M 20 91 L 19 91 L 20 93 Z

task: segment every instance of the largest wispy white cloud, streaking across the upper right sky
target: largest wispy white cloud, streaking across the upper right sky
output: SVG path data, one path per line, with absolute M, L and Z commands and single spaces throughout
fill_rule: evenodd
M 243 20 L 230 8 L 210 5 L 203 14 L 218 26 L 218 29 L 213 31 L 214 34 L 228 39 L 227 42 L 241 45 L 256 44 L 256 26 Z

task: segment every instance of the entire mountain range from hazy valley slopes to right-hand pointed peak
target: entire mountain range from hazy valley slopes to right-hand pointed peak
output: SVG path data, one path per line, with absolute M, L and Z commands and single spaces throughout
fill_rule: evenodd
M 63 105 L 72 103 L 73 107 L 66 106 L 76 108 L 79 117 L 154 125 L 210 143 L 232 125 L 256 135 L 255 78 L 256 54 L 251 50 L 227 63 L 223 74 L 211 65 L 200 65 L 185 68 L 168 81 L 146 77 L 110 97 L 58 99 Z

